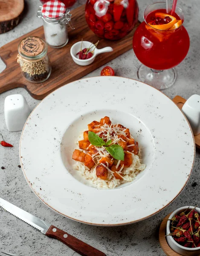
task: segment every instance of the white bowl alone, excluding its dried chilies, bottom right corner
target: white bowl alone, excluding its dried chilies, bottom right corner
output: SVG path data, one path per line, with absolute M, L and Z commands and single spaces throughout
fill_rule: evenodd
M 173 218 L 174 215 L 179 214 L 180 212 L 185 211 L 188 208 L 188 206 L 184 206 L 184 207 L 180 207 L 177 210 L 175 210 L 174 212 L 172 212 L 172 214 L 169 216 L 169 219 Z M 194 206 L 189 206 L 189 209 L 193 209 Z M 200 214 L 200 208 L 196 207 L 195 210 Z M 166 227 L 166 235 L 168 235 L 170 232 L 170 222 L 167 222 L 167 227 Z M 184 247 L 180 244 L 178 244 L 172 236 L 166 236 L 168 245 L 171 247 L 172 250 L 174 250 L 176 253 L 179 253 L 180 255 L 183 256 L 195 256 L 195 255 L 199 255 L 200 254 L 200 247 L 197 248 L 187 248 Z

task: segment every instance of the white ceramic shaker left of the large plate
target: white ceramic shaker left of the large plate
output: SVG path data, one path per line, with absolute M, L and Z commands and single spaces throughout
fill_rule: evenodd
M 22 131 L 30 113 L 29 105 L 21 94 L 13 94 L 6 97 L 4 115 L 9 131 Z

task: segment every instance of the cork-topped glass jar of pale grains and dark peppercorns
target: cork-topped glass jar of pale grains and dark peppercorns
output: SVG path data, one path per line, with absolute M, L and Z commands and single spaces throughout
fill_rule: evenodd
M 32 83 L 41 83 L 49 78 L 51 64 L 46 42 L 37 36 L 24 38 L 18 45 L 17 63 L 23 76 Z

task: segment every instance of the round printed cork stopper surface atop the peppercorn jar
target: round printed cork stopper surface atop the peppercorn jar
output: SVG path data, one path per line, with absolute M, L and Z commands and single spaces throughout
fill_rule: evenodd
M 43 41 L 37 37 L 28 37 L 20 44 L 20 51 L 27 56 L 37 56 L 44 49 Z

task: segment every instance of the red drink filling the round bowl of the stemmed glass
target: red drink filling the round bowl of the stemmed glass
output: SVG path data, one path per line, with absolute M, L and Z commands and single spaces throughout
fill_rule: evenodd
M 166 70 L 180 64 L 189 49 L 189 36 L 184 26 L 172 30 L 158 30 L 152 28 L 156 13 L 165 13 L 165 9 L 157 9 L 144 14 L 145 21 L 136 29 L 133 36 L 133 50 L 136 57 L 145 66 L 154 70 Z M 177 21 L 184 21 L 184 16 L 173 15 Z M 154 23 L 155 24 L 155 23 Z

